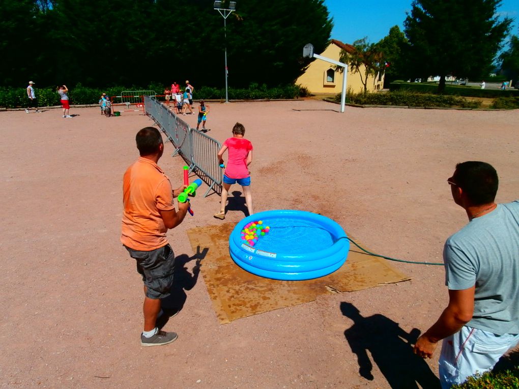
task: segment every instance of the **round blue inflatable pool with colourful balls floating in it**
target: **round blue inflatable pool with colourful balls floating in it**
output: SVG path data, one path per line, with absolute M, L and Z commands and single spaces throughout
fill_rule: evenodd
M 245 228 L 257 228 L 258 237 L 248 240 Z M 335 221 L 304 211 L 256 213 L 241 220 L 229 236 L 230 256 L 238 266 L 274 280 L 310 280 L 333 273 L 346 261 L 349 247 Z

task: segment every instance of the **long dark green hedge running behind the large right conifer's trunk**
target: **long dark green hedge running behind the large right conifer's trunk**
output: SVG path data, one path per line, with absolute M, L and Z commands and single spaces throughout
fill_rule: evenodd
M 389 89 L 393 91 L 407 90 L 419 93 L 431 93 L 438 94 L 438 84 L 428 82 L 405 82 L 405 81 L 394 81 L 389 84 Z M 464 97 L 478 97 L 478 98 L 489 98 L 496 99 L 500 97 L 511 97 L 519 96 L 518 89 L 480 89 L 467 87 L 463 85 L 445 85 L 445 90 L 442 94 L 455 95 Z

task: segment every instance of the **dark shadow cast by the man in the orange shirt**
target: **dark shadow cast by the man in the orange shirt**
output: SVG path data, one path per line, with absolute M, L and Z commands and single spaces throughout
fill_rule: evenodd
M 170 295 L 161 300 L 162 310 L 167 314 L 163 315 L 159 320 L 157 320 L 157 327 L 162 328 L 168 323 L 169 317 L 172 313 L 182 311 L 184 308 L 184 303 L 187 300 L 186 290 L 192 289 L 198 280 L 198 274 L 200 273 L 200 262 L 207 255 L 209 248 L 204 248 L 200 252 L 200 246 L 197 247 L 197 253 L 189 257 L 186 254 L 179 255 L 175 257 L 175 272 L 173 275 L 173 286 L 170 290 Z M 187 270 L 187 263 L 196 260 L 195 266 L 192 269 L 192 273 Z

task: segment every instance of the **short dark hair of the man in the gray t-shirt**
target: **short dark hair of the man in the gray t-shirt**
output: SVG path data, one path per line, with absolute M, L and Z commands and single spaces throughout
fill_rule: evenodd
M 494 202 L 499 178 L 496 169 L 486 162 L 467 161 L 456 165 L 454 182 L 463 191 L 472 205 Z

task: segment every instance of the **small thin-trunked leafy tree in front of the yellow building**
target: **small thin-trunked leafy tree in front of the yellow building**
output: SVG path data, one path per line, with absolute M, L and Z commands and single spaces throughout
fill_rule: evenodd
M 364 93 L 367 92 L 367 79 L 383 71 L 380 50 L 376 44 L 370 44 L 367 37 L 354 41 L 351 50 L 341 49 L 339 61 L 348 64 L 351 73 L 359 73 Z M 337 66 L 336 70 L 344 72 L 344 67 Z

